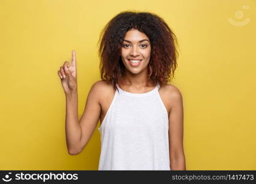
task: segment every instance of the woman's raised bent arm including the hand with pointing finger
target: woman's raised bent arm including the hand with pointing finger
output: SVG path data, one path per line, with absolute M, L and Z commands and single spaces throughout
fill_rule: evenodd
M 70 155 L 79 154 L 87 145 L 98 124 L 101 106 L 99 105 L 100 82 L 91 86 L 88 93 L 85 110 L 82 117 L 78 118 L 76 53 L 72 52 L 71 65 L 68 61 L 60 67 L 58 75 L 66 94 L 66 144 Z

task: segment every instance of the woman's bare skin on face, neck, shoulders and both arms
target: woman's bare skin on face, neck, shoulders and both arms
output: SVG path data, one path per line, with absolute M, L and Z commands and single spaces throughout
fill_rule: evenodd
M 147 93 L 153 90 L 155 86 L 152 81 L 147 83 L 147 66 L 151 52 L 149 37 L 137 29 L 131 29 L 126 33 L 124 40 L 121 55 L 126 73 L 120 78 L 118 85 L 130 93 Z M 133 66 L 128 59 L 142 61 L 138 66 Z M 115 93 L 111 83 L 102 80 L 95 82 L 88 93 L 82 117 L 78 120 L 76 74 L 76 53 L 73 51 L 71 64 L 66 61 L 58 71 L 67 99 L 66 140 L 71 155 L 79 154 L 87 145 L 98 125 L 98 120 L 103 122 Z M 176 86 L 170 84 L 161 86 L 159 94 L 169 117 L 170 168 L 185 170 L 182 94 Z

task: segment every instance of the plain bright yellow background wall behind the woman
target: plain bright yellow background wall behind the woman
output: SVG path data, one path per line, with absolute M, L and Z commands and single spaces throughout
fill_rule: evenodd
M 187 170 L 256 170 L 254 0 L 1 0 L 0 169 L 98 169 L 98 129 L 82 153 L 68 154 L 57 71 L 76 50 L 80 118 L 100 80 L 99 33 L 123 10 L 157 13 L 176 33 Z

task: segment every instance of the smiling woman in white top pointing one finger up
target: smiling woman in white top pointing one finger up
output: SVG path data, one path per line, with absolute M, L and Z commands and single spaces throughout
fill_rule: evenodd
M 87 145 L 100 119 L 99 170 L 185 170 L 182 94 L 168 84 L 177 39 L 149 12 L 121 12 L 99 38 L 101 79 L 77 115 L 76 54 L 58 75 L 66 94 L 69 154 Z

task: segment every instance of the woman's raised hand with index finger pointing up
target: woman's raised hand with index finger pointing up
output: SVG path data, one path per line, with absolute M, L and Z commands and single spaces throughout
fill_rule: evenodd
M 60 67 L 58 75 L 60 76 L 61 85 L 65 94 L 77 90 L 77 64 L 76 52 L 74 50 L 72 51 L 71 64 L 69 64 L 68 61 L 65 61 L 63 66 Z

